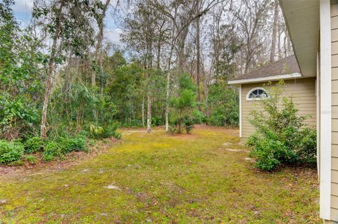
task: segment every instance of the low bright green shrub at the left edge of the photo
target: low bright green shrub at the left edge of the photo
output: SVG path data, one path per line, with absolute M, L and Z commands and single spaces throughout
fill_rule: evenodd
M 24 152 L 23 144 L 0 140 L 0 164 L 18 161 Z

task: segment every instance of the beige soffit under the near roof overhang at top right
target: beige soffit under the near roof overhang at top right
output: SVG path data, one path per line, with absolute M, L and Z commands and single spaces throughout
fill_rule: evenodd
M 319 0 L 280 0 L 303 77 L 315 77 L 319 37 Z

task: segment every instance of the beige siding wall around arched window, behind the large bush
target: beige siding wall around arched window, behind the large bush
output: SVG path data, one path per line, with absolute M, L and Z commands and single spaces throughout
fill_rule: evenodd
M 284 81 L 284 94 L 292 96 L 294 103 L 299 110 L 299 115 L 311 115 L 311 118 L 306 120 L 306 123 L 315 126 L 316 123 L 316 99 L 315 99 L 315 78 L 306 79 L 290 79 Z M 250 124 L 251 111 L 259 110 L 258 102 L 255 100 L 246 100 L 246 95 L 252 88 L 264 87 L 265 83 L 242 84 L 242 138 L 245 142 L 247 138 L 255 131 Z M 337 108 L 338 109 L 338 108 Z M 338 136 L 337 136 L 338 137 Z

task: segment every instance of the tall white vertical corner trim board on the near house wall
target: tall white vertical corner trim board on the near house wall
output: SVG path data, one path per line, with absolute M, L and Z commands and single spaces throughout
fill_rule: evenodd
M 320 218 L 331 213 L 331 18 L 330 1 L 320 1 Z

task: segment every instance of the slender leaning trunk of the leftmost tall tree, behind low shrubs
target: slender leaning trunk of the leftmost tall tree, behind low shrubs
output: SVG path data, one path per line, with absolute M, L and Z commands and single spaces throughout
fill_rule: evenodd
M 60 28 L 61 28 L 61 12 L 64 6 L 64 2 L 61 1 L 60 8 L 59 8 L 59 14 L 58 14 L 58 23 L 56 25 L 56 30 L 53 38 L 53 44 L 51 45 L 51 57 L 49 58 L 49 64 L 48 64 L 48 74 L 47 79 L 45 82 L 45 91 L 44 91 L 44 103 L 42 105 L 42 117 L 41 117 L 41 123 L 40 123 L 40 137 L 42 139 L 47 137 L 47 110 L 48 110 L 48 104 L 49 104 L 49 98 L 51 97 L 51 91 L 53 90 L 53 79 L 54 79 L 54 60 L 57 57 L 56 55 L 56 44 L 58 41 L 58 38 L 60 37 Z

